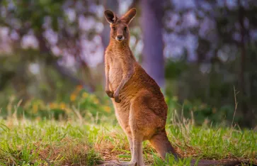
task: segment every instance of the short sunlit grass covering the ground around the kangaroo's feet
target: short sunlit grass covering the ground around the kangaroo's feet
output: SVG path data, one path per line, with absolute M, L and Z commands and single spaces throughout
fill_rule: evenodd
M 195 127 L 190 123 L 167 125 L 167 132 L 184 157 L 237 158 L 256 163 L 256 132 Z M 172 159 L 163 162 L 147 141 L 143 145 L 148 165 L 174 164 Z M 130 160 L 128 147 L 121 128 L 108 122 L 0 120 L 0 165 L 97 165 L 101 160 Z

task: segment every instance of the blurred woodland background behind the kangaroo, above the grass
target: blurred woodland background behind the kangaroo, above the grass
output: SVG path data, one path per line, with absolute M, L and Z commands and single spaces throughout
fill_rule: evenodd
M 59 119 L 73 106 L 79 116 L 113 115 L 103 11 L 119 17 L 132 7 L 130 47 L 170 112 L 256 127 L 256 0 L 1 0 L 1 118 Z

